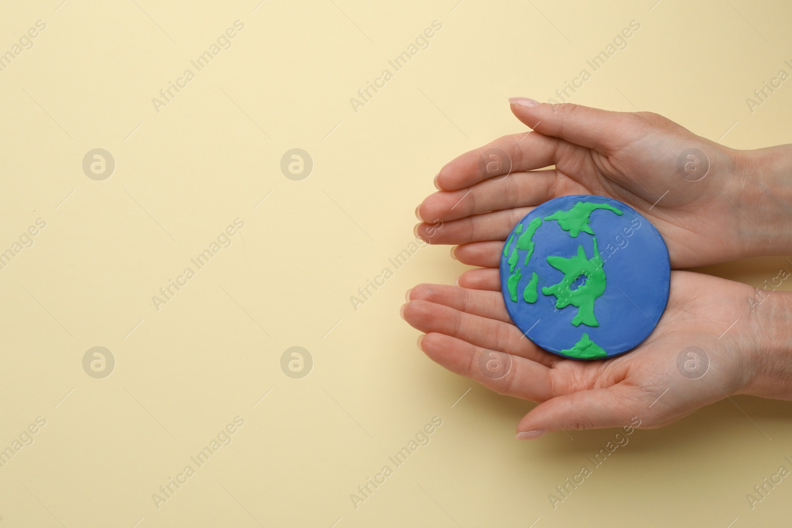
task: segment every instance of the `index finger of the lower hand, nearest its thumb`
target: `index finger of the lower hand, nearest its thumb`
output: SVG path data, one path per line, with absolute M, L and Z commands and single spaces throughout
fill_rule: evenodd
M 428 333 L 418 341 L 429 359 L 471 378 L 488 389 L 534 401 L 553 397 L 551 369 L 517 355 L 486 350 L 441 333 Z

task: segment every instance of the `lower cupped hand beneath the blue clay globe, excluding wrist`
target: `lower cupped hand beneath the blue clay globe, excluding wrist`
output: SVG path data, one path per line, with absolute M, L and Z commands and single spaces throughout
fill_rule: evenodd
M 638 348 L 578 361 L 543 351 L 512 324 L 497 269 L 468 272 L 466 282 L 475 289 L 413 287 L 402 317 L 425 332 L 418 346 L 436 363 L 539 403 L 520 420 L 519 439 L 635 425 L 636 417 L 641 428 L 661 427 L 732 394 L 756 392 L 763 362 L 752 360 L 758 345 L 751 336 L 761 332 L 753 328 L 747 285 L 672 272 L 668 307 Z

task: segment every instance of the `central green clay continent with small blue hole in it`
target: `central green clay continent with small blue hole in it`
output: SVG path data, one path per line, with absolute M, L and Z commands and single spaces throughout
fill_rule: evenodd
M 543 287 L 542 293 L 555 295 L 556 308 L 564 308 L 570 304 L 577 306 L 577 315 L 572 319 L 573 325 L 580 326 L 582 323 L 586 326 L 600 326 L 594 317 L 594 301 L 605 291 L 605 271 L 602 267 L 604 260 L 596 247 L 596 238 L 594 238 L 594 256 L 591 259 L 586 258 L 583 246 L 579 245 L 577 256 L 569 259 L 563 256 L 548 256 L 547 264 L 563 272 L 564 278 L 558 284 Z M 569 287 L 581 275 L 586 276 L 586 283 L 577 290 L 571 290 Z

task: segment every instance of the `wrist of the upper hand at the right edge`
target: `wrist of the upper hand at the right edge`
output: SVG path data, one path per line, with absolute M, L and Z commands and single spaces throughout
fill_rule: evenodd
M 743 256 L 792 253 L 792 145 L 733 150 L 724 194 L 739 212 Z

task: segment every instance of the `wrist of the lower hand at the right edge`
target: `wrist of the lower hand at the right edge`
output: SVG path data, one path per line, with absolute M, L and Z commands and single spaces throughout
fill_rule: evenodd
M 792 279 L 792 266 L 771 282 Z M 767 283 L 767 281 L 765 281 Z M 753 396 L 792 400 L 792 292 L 755 289 L 751 299 L 749 334 L 742 370 L 746 383 L 740 391 Z

